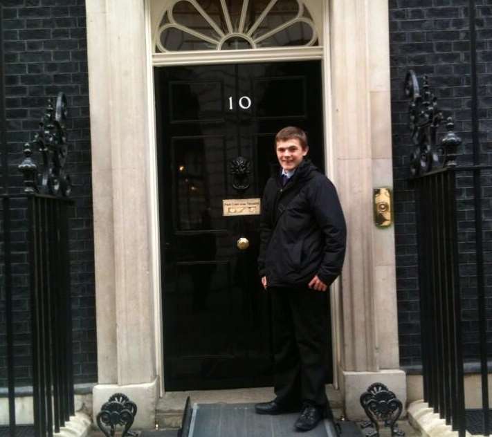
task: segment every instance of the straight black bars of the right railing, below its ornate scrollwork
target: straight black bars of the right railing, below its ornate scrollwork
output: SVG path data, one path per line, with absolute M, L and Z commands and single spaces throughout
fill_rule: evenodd
M 414 180 L 417 201 L 423 396 L 464 436 L 464 373 L 455 172 Z

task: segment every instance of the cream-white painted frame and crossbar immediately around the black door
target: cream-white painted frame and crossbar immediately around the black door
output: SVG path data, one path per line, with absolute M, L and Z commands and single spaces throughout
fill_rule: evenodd
M 323 87 L 323 109 L 324 109 L 324 133 L 325 145 L 325 167 L 327 168 L 327 174 L 331 176 L 333 174 L 333 160 L 331 159 L 331 67 L 330 67 L 330 44 L 329 44 L 329 21 L 320 19 L 320 17 L 326 17 L 328 15 L 328 2 L 322 1 L 320 3 L 317 0 L 303 0 L 306 3 L 311 15 L 316 17 L 315 25 L 320 39 L 320 46 L 307 46 L 307 47 L 282 47 L 282 48 L 268 48 L 268 49 L 249 49 L 249 50 L 217 50 L 215 53 L 200 52 L 199 50 L 192 53 L 166 53 L 159 55 L 152 55 L 152 41 L 154 40 L 153 29 L 156 26 L 152 10 L 152 0 L 145 0 L 145 24 L 146 24 L 146 41 L 147 41 L 147 63 L 148 68 L 152 71 L 154 66 L 183 66 L 183 65 L 203 65 L 203 64 L 242 64 L 252 62 L 282 62 L 282 61 L 307 61 L 307 60 L 320 60 L 322 67 L 322 87 Z M 163 3 L 160 6 L 165 7 L 166 0 L 161 0 L 159 3 Z M 152 156 L 152 164 L 156 165 L 156 125 L 155 125 L 155 104 L 154 104 L 154 81 L 152 74 L 147 77 L 147 101 L 148 111 L 152 116 L 149 117 L 149 133 L 151 141 L 149 143 L 149 155 Z M 158 205 L 156 205 L 154 198 L 157 197 L 158 187 L 156 185 L 156 169 L 152 169 L 152 183 L 155 183 L 152 187 L 152 234 L 156 236 L 156 239 L 152 239 L 152 272 L 154 276 L 154 317 L 156 320 L 156 369 L 158 375 L 163 375 L 165 369 L 163 369 L 163 353 L 164 346 L 162 341 L 162 290 L 161 290 L 161 259 L 160 248 L 158 239 Z M 154 209 L 155 208 L 155 209 Z M 339 332 L 339 316 L 338 316 L 338 282 L 332 287 L 331 293 L 331 333 L 333 337 L 333 368 L 336 369 L 338 361 L 338 342 L 340 341 Z M 163 378 L 161 380 L 161 394 L 164 393 Z M 334 385 L 338 387 L 338 373 L 334 371 Z

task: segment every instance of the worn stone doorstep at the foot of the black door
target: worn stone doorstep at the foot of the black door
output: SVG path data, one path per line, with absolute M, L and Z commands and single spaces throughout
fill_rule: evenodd
M 170 391 L 163 394 L 157 402 L 156 423 L 160 429 L 176 429 L 181 427 L 181 418 L 185 407 L 186 398 L 190 396 L 193 404 L 215 404 L 226 402 L 228 404 L 246 404 L 266 402 L 272 400 L 272 387 L 255 389 L 232 390 L 197 390 L 197 391 Z M 340 391 L 327 385 L 327 396 L 335 417 L 342 414 L 343 402 Z

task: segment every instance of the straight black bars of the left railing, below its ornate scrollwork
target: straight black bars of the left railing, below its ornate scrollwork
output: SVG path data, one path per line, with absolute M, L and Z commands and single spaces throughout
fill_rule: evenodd
M 3 288 L 6 309 L 6 348 L 10 436 L 16 436 L 15 295 L 19 282 L 13 270 L 18 255 L 28 259 L 31 378 L 35 436 L 52 436 L 75 413 L 73 401 L 70 266 L 66 198 L 29 194 L 2 197 Z M 26 212 L 24 229 L 12 213 Z M 26 234 L 26 250 L 16 235 Z M 12 238 L 14 236 L 14 238 Z M 24 275 L 25 276 L 25 275 Z M 25 354 L 21 351 L 22 355 Z M 24 355 L 25 356 L 25 355 Z M 17 357 L 18 358 L 18 357 Z

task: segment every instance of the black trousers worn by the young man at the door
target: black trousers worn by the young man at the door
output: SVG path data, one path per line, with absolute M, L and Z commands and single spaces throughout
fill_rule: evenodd
M 329 292 L 268 288 L 272 297 L 274 383 L 277 402 L 327 406 Z

